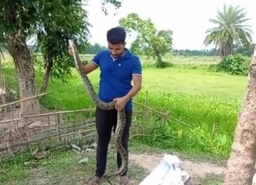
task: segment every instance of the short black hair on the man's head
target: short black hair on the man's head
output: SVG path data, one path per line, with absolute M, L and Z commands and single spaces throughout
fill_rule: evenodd
M 124 44 L 126 40 L 126 31 L 122 27 L 113 27 L 107 31 L 107 41 L 111 44 Z

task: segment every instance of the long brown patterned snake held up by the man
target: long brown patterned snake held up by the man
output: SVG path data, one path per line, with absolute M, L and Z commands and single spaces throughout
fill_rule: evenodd
M 106 102 L 101 101 L 98 98 L 98 95 L 94 91 L 93 85 L 92 85 L 91 81 L 89 80 L 88 76 L 86 74 L 84 74 L 84 72 L 82 72 L 82 69 L 79 67 L 78 59 L 77 59 L 78 55 L 77 55 L 76 51 L 74 50 L 73 41 L 69 40 L 69 44 L 72 47 L 72 52 L 73 52 L 73 56 L 74 56 L 74 64 L 75 64 L 76 70 L 79 72 L 79 74 L 84 82 L 84 86 L 88 90 L 89 95 L 93 99 L 93 102 L 99 108 L 102 108 L 104 110 L 114 109 L 115 101 L 106 103 Z M 128 154 L 122 145 L 122 133 L 125 128 L 125 125 L 126 125 L 126 114 L 125 114 L 125 110 L 122 109 L 121 111 L 117 112 L 117 125 L 116 125 L 116 131 L 115 131 L 116 149 L 121 155 L 122 164 L 121 164 L 121 167 L 118 169 L 118 171 L 116 171 L 115 173 L 113 173 L 111 175 L 108 175 L 108 177 L 109 176 L 121 176 L 128 168 Z

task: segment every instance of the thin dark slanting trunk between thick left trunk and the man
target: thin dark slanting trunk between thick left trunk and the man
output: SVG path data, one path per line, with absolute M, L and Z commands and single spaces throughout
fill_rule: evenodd
M 51 74 L 51 67 L 53 65 L 53 61 L 50 56 L 44 56 L 44 62 L 45 62 L 45 73 L 42 81 L 42 86 L 40 89 L 40 94 L 45 93 L 47 90 L 50 74 Z

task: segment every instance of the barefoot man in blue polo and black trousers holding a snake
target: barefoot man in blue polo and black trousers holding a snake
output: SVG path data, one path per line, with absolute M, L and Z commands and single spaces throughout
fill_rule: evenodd
M 91 63 L 79 65 L 85 74 L 100 68 L 99 99 L 104 102 L 116 100 L 114 110 L 96 108 L 96 129 L 98 133 L 96 174 L 88 185 L 97 185 L 101 180 L 107 162 L 107 149 L 111 138 L 112 127 L 116 129 L 117 111 L 125 108 L 126 126 L 122 135 L 122 144 L 128 153 L 128 139 L 132 117 L 131 99 L 140 91 L 142 83 L 142 68 L 140 59 L 126 49 L 126 32 L 121 27 L 115 27 L 107 32 L 108 50 L 94 56 Z M 69 48 L 71 53 L 71 48 Z M 134 86 L 131 86 L 133 81 Z M 117 153 L 117 166 L 121 167 L 121 156 Z M 120 185 L 129 182 L 127 171 L 120 177 Z

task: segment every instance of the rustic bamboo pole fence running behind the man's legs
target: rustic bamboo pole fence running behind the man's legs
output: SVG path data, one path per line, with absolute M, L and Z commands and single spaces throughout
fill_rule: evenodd
M 10 110 L 13 110 L 14 107 L 19 107 L 23 101 L 38 99 L 46 94 L 2 104 L 0 109 L 7 110 L 7 107 L 12 107 Z M 148 95 L 142 104 L 133 101 L 134 111 L 130 138 L 145 135 L 144 127 L 152 114 L 158 115 L 163 123 L 168 118 L 173 119 L 165 113 L 149 108 L 146 105 L 147 101 Z M 53 112 L 40 111 L 38 114 L 29 115 L 20 115 L 14 111 L 7 118 L 8 111 L 4 112 L 0 120 L 0 158 L 14 155 L 19 149 L 35 144 L 67 144 L 70 142 L 79 143 L 83 140 L 96 142 L 94 112 L 95 108 L 55 110 Z

